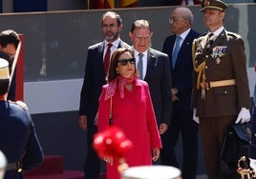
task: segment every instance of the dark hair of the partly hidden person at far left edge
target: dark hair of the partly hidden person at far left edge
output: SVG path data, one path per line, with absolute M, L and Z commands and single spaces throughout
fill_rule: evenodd
M 13 44 L 17 49 L 19 42 L 19 36 L 14 30 L 4 30 L 0 33 L 0 45 L 2 48 L 6 48 L 8 44 Z

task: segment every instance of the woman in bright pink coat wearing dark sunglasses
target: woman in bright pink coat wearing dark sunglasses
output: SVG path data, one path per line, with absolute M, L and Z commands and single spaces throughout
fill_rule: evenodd
M 98 131 L 109 127 L 112 98 L 113 124 L 133 143 L 124 156 L 129 167 L 152 165 L 160 157 L 160 133 L 146 82 L 138 79 L 132 50 L 117 49 L 111 58 L 109 84 L 99 97 Z M 119 179 L 117 158 L 107 160 L 107 178 Z

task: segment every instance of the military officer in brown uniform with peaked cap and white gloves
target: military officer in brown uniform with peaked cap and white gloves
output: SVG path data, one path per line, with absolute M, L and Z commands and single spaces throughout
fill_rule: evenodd
M 232 123 L 250 120 L 250 100 L 243 38 L 224 29 L 224 10 L 220 0 L 203 0 L 203 23 L 208 32 L 193 42 L 194 120 L 200 123 L 205 169 L 209 179 L 224 176 L 220 168 L 220 149 L 224 130 Z

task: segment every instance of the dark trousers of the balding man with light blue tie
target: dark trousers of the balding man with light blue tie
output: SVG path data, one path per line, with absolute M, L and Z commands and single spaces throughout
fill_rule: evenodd
M 179 168 L 175 147 L 180 133 L 183 149 L 182 179 L 195 179 L 198 164 L 198 124 L 193 121 L 192 110 L 173 110 L 170 126 L 161 136 L 161 164 Z

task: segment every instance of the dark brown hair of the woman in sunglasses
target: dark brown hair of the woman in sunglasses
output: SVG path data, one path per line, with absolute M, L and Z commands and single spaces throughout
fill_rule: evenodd
M 130 49 L 127 49 L 127 48 L 119 48 L 119 49 L 117 49 L 113 52 L 113 54 L 111 56 L 109 73 L 108 73 L 108 76 L 107 76 L 107 81 L 108 82 L 111 82 L 112 80 L 117 78 L 117 76 L 118 76 L 117 63 L 118 63 L 120 55 L 122 53 L 126 52 L 126 51 L 130 52 L 132 54 L 132 56 L 134 57 L 134 51 L 130 50 Z M 135 76 L 138 77 L 138 70 L 136 68 L 136 63 L 135 63 Z

